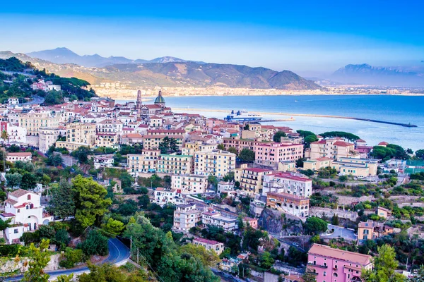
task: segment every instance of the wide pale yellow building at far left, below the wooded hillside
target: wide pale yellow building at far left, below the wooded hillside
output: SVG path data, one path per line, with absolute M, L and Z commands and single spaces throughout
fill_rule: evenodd
M 37 136 L 40 128 L 59 127 L 62 118 L 47 113 L 30 113 L 20 115 L 18 121 L 20 127 L 26 128 L 27 135 Z

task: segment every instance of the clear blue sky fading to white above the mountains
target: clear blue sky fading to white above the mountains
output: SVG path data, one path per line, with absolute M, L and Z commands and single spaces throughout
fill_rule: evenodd
M 423 1 L 4 1 L 0 50 L 264 66 L 300 75 L 348 63 L 424 63 Z

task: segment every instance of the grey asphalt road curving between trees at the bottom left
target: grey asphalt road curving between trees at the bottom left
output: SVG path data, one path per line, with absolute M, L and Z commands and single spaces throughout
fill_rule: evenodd
M 109 239 L 109 256 L 100 264 L 117 264 L 119 262 L 124 262 L 124 260 L 129 258 L 129 248 L 126 247 L 121 241 L 117 238 Z M 82 274 L 83 272 L 88 271 L 88 267 L 81 267 L 78 269 L 62 269 L 62 270 L 54 270 L 54 271 L 46 271 L 51 277 L 59 276 L 59 275 L 69 275 L 74 274 L 74 277 L 78 274 Z M 4 281 L 20 281 L 23 278 L 23 275 L 15 276 L 12 278 L 7 278 Z

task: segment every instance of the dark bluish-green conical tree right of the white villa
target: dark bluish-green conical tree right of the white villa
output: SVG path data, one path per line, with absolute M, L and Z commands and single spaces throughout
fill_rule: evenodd
M 66 180 L 61 180 L 58 188 L 52 190 L 52 198 L 50 199 L 49 212 L 61 219 L 75 215 L 75 202 L 73 202 L 73 190 L 71 184 Z

